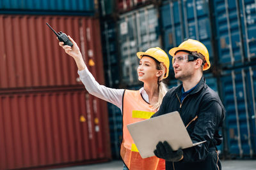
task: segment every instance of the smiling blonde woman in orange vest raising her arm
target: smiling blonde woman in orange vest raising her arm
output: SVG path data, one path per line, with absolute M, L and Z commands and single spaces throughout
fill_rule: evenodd
M 146 52 L 138 52 L 140 59 L 138 79 L 144 85 L 140 90 L 111 89 L 99 85 L 88 71 L 76 42 L 68 36 L 74 44 L 72 47 L 60 42 L 65 52 L 72 56 L 78 67 L 78 74 L 86 90 L 93 96 L 115 104 L 123 114 L 123 141 L 121 157 L 124 160 L 124 169 L 165 169 L 163 159 L 150 157 L 142 159 L 127 130 L 127 124 L 150 118 L 158 109 L 167 92 L 162 82 L 169 73 L 170 61 L 168 55 L 161 48 L 149 48 Z M 125 166 L 126 165 L 126 166 Z

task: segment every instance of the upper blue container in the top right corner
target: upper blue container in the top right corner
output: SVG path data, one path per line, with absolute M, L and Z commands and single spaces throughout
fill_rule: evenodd
M 244 66 L 255 59 L 255 1 L 214 0 L 216 43 L 222 67 Z

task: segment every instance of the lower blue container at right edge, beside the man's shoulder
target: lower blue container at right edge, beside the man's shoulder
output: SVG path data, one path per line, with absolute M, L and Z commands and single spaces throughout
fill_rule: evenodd
M 230 157 L 253 157 L 255 136 L 255 67 L 221 73 L 221 97 L 227 111 L 225 133 Z

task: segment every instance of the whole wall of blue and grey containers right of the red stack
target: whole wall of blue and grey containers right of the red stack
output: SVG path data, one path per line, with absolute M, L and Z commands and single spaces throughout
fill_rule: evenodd
M 168 53 L 186 39 L 197 39 L 209 50 L 207 85 L 218 92 L 227 110 L 218 150 L 225 157 L 255 157 L 255 1 L 113 0 L 109 6 L 111 10 L 102 15 L 102 21 L 108 19 L 102 27 L 109 40 L 103 44 L 109 49 L 103 50 L 108 85 L 139 89 L 136 52 L 159 46 Z M 170 88 L 180 84 L 172 64 L 167 81 Z

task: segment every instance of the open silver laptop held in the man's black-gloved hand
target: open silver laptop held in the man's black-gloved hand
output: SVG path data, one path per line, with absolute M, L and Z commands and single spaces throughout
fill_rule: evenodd
M 127 125 L 142 158 L 154 156 L 159 141 L 167 141 L 173 150 L 189 148 L 193 143 L 178 111 Z

